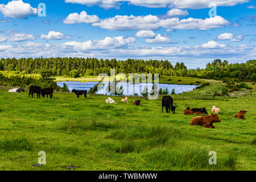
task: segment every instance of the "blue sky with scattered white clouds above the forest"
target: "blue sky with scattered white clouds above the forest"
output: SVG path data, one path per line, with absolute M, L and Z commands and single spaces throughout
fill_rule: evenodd
M 183 61 L 255 59 L 250 0 L 0 1 L 1 57 L 97 57 Z M 46 16 L 38 16 L 38 4 Z M 210 17 L 209 4 L 217 6 Z

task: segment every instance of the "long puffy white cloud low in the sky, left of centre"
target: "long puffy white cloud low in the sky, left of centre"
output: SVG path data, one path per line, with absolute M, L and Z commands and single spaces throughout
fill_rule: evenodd
M 72 46 L 77 51 L 82 50 L 98 50 L 98 49 L 114 49 L 128 47 L 131 43 L 136 41 L 135 38 L 123 38 L 122 36 L 118 37 L 106 37 L 103 40 L 89 40 L 86 42 L 66 42 L 64 46 Z

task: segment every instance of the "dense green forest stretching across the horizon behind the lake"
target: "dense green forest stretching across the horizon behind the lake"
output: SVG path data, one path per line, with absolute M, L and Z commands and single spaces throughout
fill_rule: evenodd
M 116 73 L 125 74 L 159 73 L 160 76 L 189 76 L 217 80 L 236 78 L 242 81 L 256 81 L 256 60 L 229 64 L 226 60 L 216 59 L 212 63 L 208 63 L 205 69 L 188 69 L 184 63 L 172 65 L 168 60 L 127 59 L 119 61 L 78 57 L 2 58 L 0 60 L 0 71 L 17 71 L 28 74 L 51 71 L 54 76 L 65 77 L 98 76 L 100 73 L 110 75 L 110 68 L 114 68 Z

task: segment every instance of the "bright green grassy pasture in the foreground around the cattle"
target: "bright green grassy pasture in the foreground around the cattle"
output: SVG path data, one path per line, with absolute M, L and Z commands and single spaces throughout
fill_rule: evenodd
M 54 93 L 52 100 L 0 89 L 0 170 L 255 170 L 256 111 L 253 92 L 211 97 L 216 82 L 172 96 L 176 114 L 162 113 L 161 98 L 142 106 L 105 103 L 107 96 L 76 98 Z M 204 97 L 205 96 L 205 97 Z M 190 126 L 185 106 L 220 107 L 216 129 Z M 246 120 L 234 118 L 247 110 Z M 46 165 L 38 152 L 46 152 Z M 209 151 L 217 165 L 209 165 Z M 67 166 L 76 166 L 69 169 Z

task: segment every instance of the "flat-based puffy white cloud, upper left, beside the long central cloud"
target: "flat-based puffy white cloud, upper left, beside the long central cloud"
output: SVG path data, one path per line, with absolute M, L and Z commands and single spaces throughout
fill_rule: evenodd
M 76 23 L 96 23 L 100 20 L 97 15 L 88 15 L 85 11 L 82 11 L 80 14 L 71 13 L 63 23 L 65 24 L 76 24 Z

